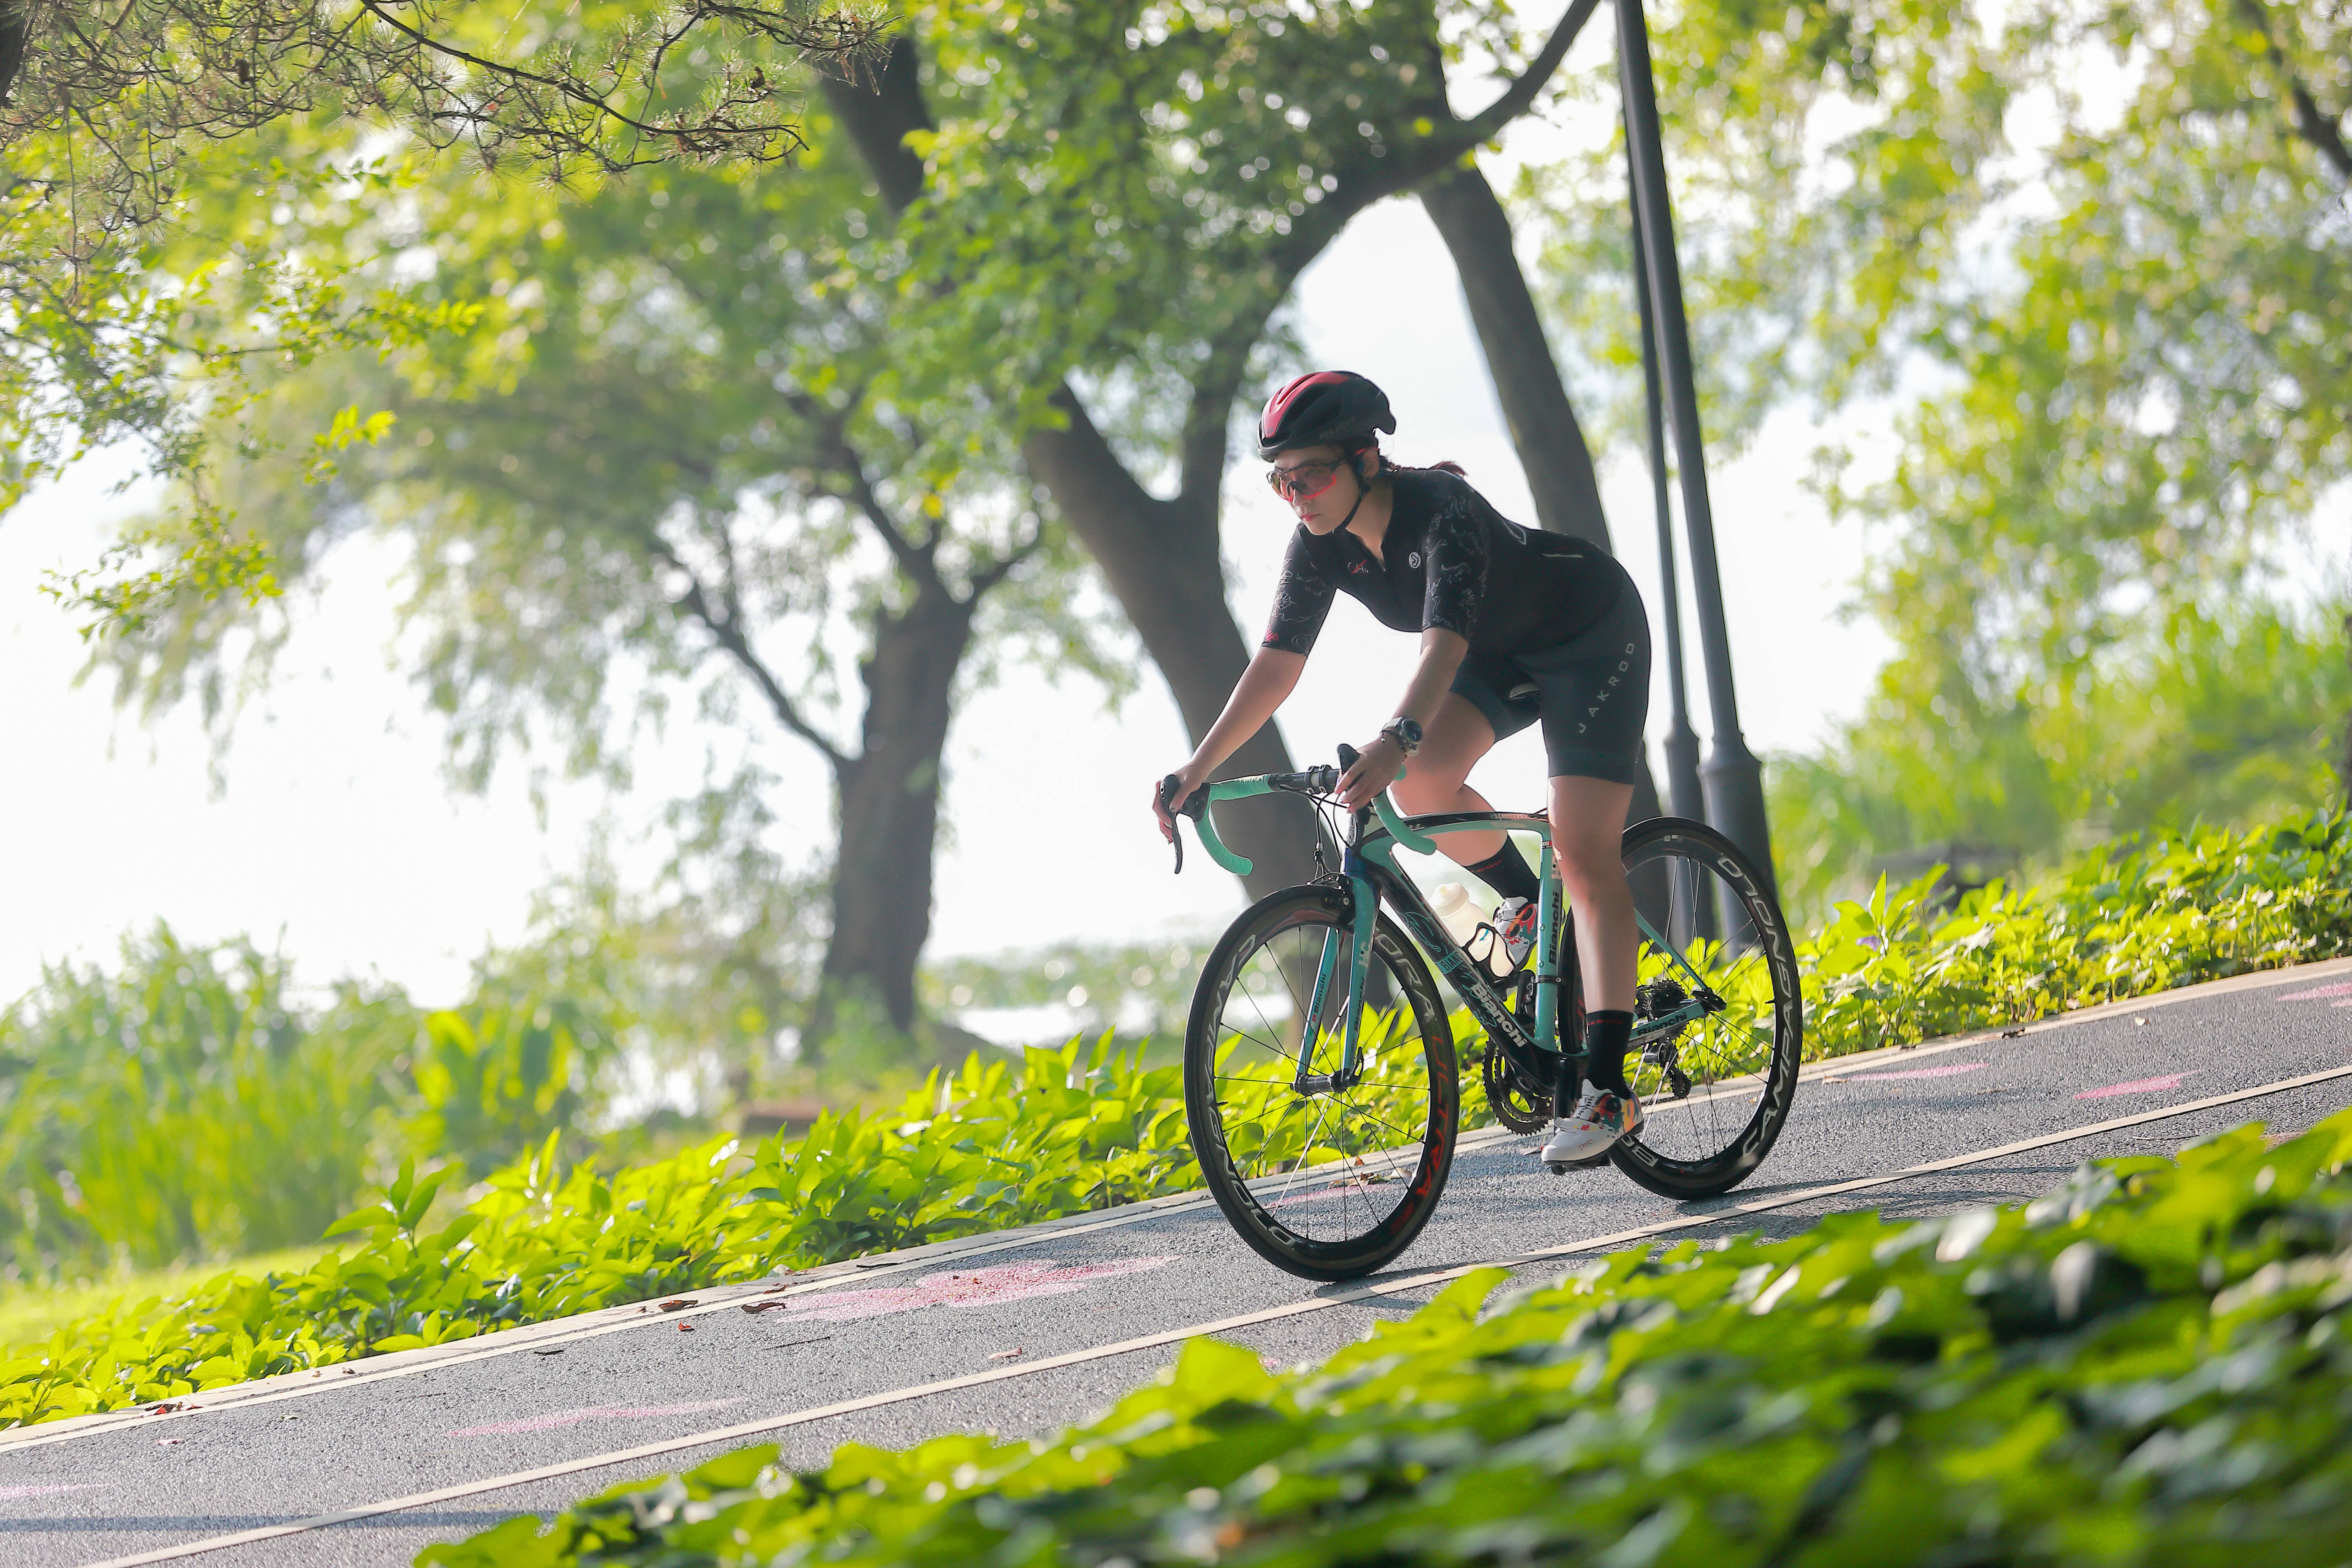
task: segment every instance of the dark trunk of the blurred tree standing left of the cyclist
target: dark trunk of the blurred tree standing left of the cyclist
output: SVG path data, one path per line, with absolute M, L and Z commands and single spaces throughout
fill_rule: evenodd
M 976 595 L 974 595 L 976 599 Z M 931 936 L 931 849 L 950 696 L 971 646 L 974 602 L 941 583 L 875 616 L 863 750 L 835 766 L 842 846 L 833 865 L 833 938 L 809 1039 L 858 1023 L 915 1027 L 915 961 Z

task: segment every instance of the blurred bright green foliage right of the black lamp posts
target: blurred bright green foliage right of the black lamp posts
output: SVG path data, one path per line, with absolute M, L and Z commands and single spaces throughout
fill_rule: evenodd
M 1783 889 L 2039 858 L 2338 792 L 2352 470 L 2352 12 L 2263 0 L 1653 14 L 1710 435 L 1896 409 L 1825 454 L 1896 639 L 1773 769 Z M 1588 80 L 1588 96 L 1613 85 Z M 1637 395 L 1618 155 L 1531 174 L 1578 369 Z M 2340 550 L 2340 531 L 2333 534 Z

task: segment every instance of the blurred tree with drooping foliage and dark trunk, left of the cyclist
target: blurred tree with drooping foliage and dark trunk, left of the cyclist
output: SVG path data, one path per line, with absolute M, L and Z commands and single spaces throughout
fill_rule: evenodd
M 663 167 L 579 197 L 442 162 L 393 207 L 355 195 L 292 216 L 223 202 L 256 242 L 332 247 L 355 273 L 397 256 L 416 299 L 485 301 L 482 320 L 273 393 L 266 421 L 289 430 L 383 409 L 381 440 L 341 458 L 285 442 L 238 470 L 280 574 L 329 571 L 358 529 L 412 548 L 416 675 L 470 788 L 539 738 L 626 780 L 630 738 L 680 698 L 811 748 L 837 837 L 790 1025 L 842 1072 L 906 1060 L 960 686 L 1023 656 L 1115 691 L 1127 675 L 995 425 L 875 395 L 898 303 L 863 282 L 861 252 L 894 242 L 891 214 L 823 155 L 790 179 Z M 247 604 L 186 599 L 111 656 L 155 708 L 223 663 L 266 679 L 289 621 L 230 635 L 252 623 Z

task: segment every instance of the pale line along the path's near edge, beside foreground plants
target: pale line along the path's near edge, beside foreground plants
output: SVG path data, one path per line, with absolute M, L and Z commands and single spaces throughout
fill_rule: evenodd
M 513 1486 L 529 1486 L 532 1481 L 553 1481 L 557 1476 L 574 1476 L 588 1469 L 607 1469 L 614 1465 L 637 1465 L 642 1460 L 659 1460 L 670 1453 L 684 1453 L 689 1448 L 710 1448 L 715 1443 L 739 1443 L 753 1436 L 767 1436 L 769 1432 L 783 1432 L 788 1427 L 807 1427 L 811 1422 L 833 1420 L 837 1415 L 856 1415 L 861 1410 L 877 1410 L 882 1406 L 908 1403 L 913 1399 L 929 1399 L 931 1394 L 953 1394 L 957 1389 L 971 1389 L 988 1382 L 1009 1382 L 1014 1378 L 1035 1378 L 1037 1373 L 1051 1373 L 1063 1366 L 1082 1366 L 1087 1361 L 1108 1361 L 1110 1356 L 1129 1356 L 1141 1349 L 1162 1349 L 1167 1345 L 1181 1345 L 1183 1340 L 1195 1340 L 1200 1335 L 1232 1333 L 1237 1328 L 1254 1328 L 1258 1324 L 1275 1324 L 1282 1319 L 1308 1316 L 1312 1312 L 1329 1312 L 1331 1307 L 1348 1307 L 1376 1295 L 1399 1295 L 1406 1291 L 1423 1291 L 1428 1286 L 1451 1284 L 1465 1274 L 1489 1267 L 1519 1269 L 1534 1262 L 1550 1262 L 1557 1258 L 1569 1258 L 1573 1253 L 1592 1253 L 1616 1246 L 1630 1246 L 1635 1241 L 1646 1241 L 1651 1237 L 1665 1237 L 1677 1229 L 1700 1229 L 1705 1225 L 1719 1225 L 1724 1220 L 1736 1220 L 1740 1215 L 1769 1213 L 1773 1208 L 1795 1208 L 1799 1204 L 1818 1204 L 1820 1199 L 1844 1197 L 1849 1192 L 1865 1192 L 1870 1187 L 1889 1187 L 1900 1180 L 1917 1175 L 1936 1175 L 1938 1171 L 1959 1171 L 1962 1166 L 1980 1166 L 1992 1159 L 2009 1159 L 2011 1154 L 2027 1154 L 2032 1150 L 2046 1150 L 2060 1143 L 2074 1143 L 2077 1138 L 2096 1138 L 2100 1133 L 2117 1133 L 2126 1126 L 2147 1126 L 2150 1121 L 2166 1121 L 2171 1117 L 2190 1117 L 2201 1110 L 2213 1110 L 2220 1105 L 2237 1105 L 2241 1100 L 2258 1100 L 2263 1095 L 2286 1093 L 2288 1088 L 2307 1088 L 2312 1084 L 2326 1084 L 2333 1079 L 2352 1077 L 2352 1067 L 2328 1067 L 2326 1072 L 2305 1072 L 2303 1077 L 2279 1079 L 2274 1084 L 2260 1084 L 2256 1088 L 2239 1088 L 2225 1095 L 2209 1095 L 2204 1100 L 2183 1100 L 2180 1105 L 2164 1105 L 2159 1110 L 2138 1112 L 2133 1117 L 2112 1117 L 2107 1121 L 2091 1121 L 2089 1126 L 2074 1126 L 2063 1133 L 2044 1133 L 2039 1138 L 2020 1138 L 2018 1143 L 2004 1143 L 1992 1150 L 1976 1150 L 1973 1154 L 1955 1154 L 1952 1159 L 1931 1159 L 1919 1166 L 1907 1166 L 1889 1175 L 1860 1175 L 1844 1182 L 1825 1182 L 1820 1187 L 1802 1187 L 1797 1192 L 1780 1192 L 1766 1199 L 1750 1199 L 1745 1204 L 1726 1204 L 1722 1208 L 1710 1208 L 1705 1213 L 1689 1213 L 1675 1220 L 1658 1220 L 1653 1225 L 1637 1225 L 1632 1229 L 1609 1232 L 1606 1237 L 1585 1237 L 1583 1241 L 1566 1241 L 1559 1246 L 1536 1248 L 1531 1253 L 1519 1253 L 1515 1258 L 1491 1258 L 1484 1262 L 1463 1262 L 1449 1269 L 1421 1269 L 1414 1274 L 1397 1274 L 1390 1279 L 1378 1279 L 1345 1291 L 1334 1291 L 1329 1295 L 1310 1295 L 1298 1302 L 1282 1307 L 1265 1307 L 1261 1312 L 1244 1312 L 1240 1316 L 1216 1319 L 1209 1324 L 1190 1324 L 1185 1328 L 1169 1328 L 1162 1333 L 1148 1333 L 1134 1340 L 1120 1340 L 1117 1345 L 1098 1345 L 1094 1349 L 1073 1349 L 1061 1356 L 1044 1356 L 1040 1361 L 1028 1361 L 1021 1366 L 1000 1366 L 985 1373 L 967 1373 L 962 1378 L 938 1378 L 934 1382 L 917 1382 L 913 1387 L 891 1389 L 887 1394 L 866 1394 L 863 1399 L 842 1399 L 828 1406 L 814 1406 L 809 1410 L 793 1410 L 790 1415 L 769 1415 L 762 1420 L 736 1422 L 731 1427 L 715 1427 L 710 1432 L 694 1432 L 689 1436 L 673 1436 L 659 1443 L 640 1443 L 637 1448 L 619 1448 L 614 1453 L 597 1453 L 586 1460 L 564 1460 L 560 1465 L 541 1465 L 539 1469 L 517 1469 L 503 1476 L 489 1476 L 482 1481 L 463 1481 L 459 1486 L 442 1486 L 430 1493 L 412 1493 L 407 1497 L 388 1497 L 383 1502 L 362 1502 L 360 1507 L 339 1509 L 334 1514 L 315 1514 L 310 1519 L 296 1519 L 289 1523 L 261 1526 L 254 1530 L 238 1530 L 233 1535 L 207 1535 L 205 1540 L 193 1540 L 181 1547 L 158 1547 L 153 1552 L 136 1552 L 132 1556 L 111 1556 L 101 1563 L 89 1563 L 89 1568 L 136 1568 L 139 1563 L 169 1563 L 183 1556 L 200 1556 L 205 1552 L 223 1552 L 228 1547 L 247 1547 L 263 1540 L 282 1540 L 287 1535 L 306 1535 L 310 1530 L 325 1530 L 339 1523 L 358 1523 L 362 1519 L 381 1519 L 386 1514 L 402 1514 L 407 1509 L 430 1507 L 435 1502 L 454 1502 L 459 1497 L 480 1497 L 482 1493 L 508 1490 Z

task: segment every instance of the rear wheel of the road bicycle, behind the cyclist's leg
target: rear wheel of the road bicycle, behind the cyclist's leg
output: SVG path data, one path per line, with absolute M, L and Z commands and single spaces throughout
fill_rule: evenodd
M 1637 1013 L 1637 1051 L 1628 1053 L 1625 1072 L 1642 1095 L 1644 1124 L 1621 1138 L 1609 1159 L 1637 1185 L 1663 1197 L 1717 1197 L 1764 1164 L 1797 1098 L 1797 1065 L 1804 1053 L 1797 947 L 1755 863 L 1705 823 L 1668 816 L 1628 827 L 1628 875 L 1661 863 L 1668 867 L 1670 886 L 1682 886 L 1675 865 L 1689 872 L 1693 889 L 1689 917 L 1698 936 L 1689 938 L 1684 961 L 1696 964 L 1722 994 L 1724 1011 L 1682 1025 L 1679 1037 L 1663 1044 L 1661 1037 L 1642 1041 L 1646 1006 Z M 1705 893 L 1698 893 L 1700 886 Z M 1710 910 L 1717 929 L 1722 919 L 1743 917 L 1745 931 L 1733 940 L 1719 933 L 1708 938 Z M 1684 940 L 1679 931 L 1668 936 L 1668 943 Z M 1639 950 L 1644 985 L 1661 976 L 1677 987 L 1686 980 L 1675 959 L 1646 936 Z M 1698 1048 L 1691 1048 L 1693 1030 Z M 1672 1086 L 1677 1072 L 1682 1072 L 1679 1091 Z M 1693 1091 L 1700 1093 L 1693 1098 Z

